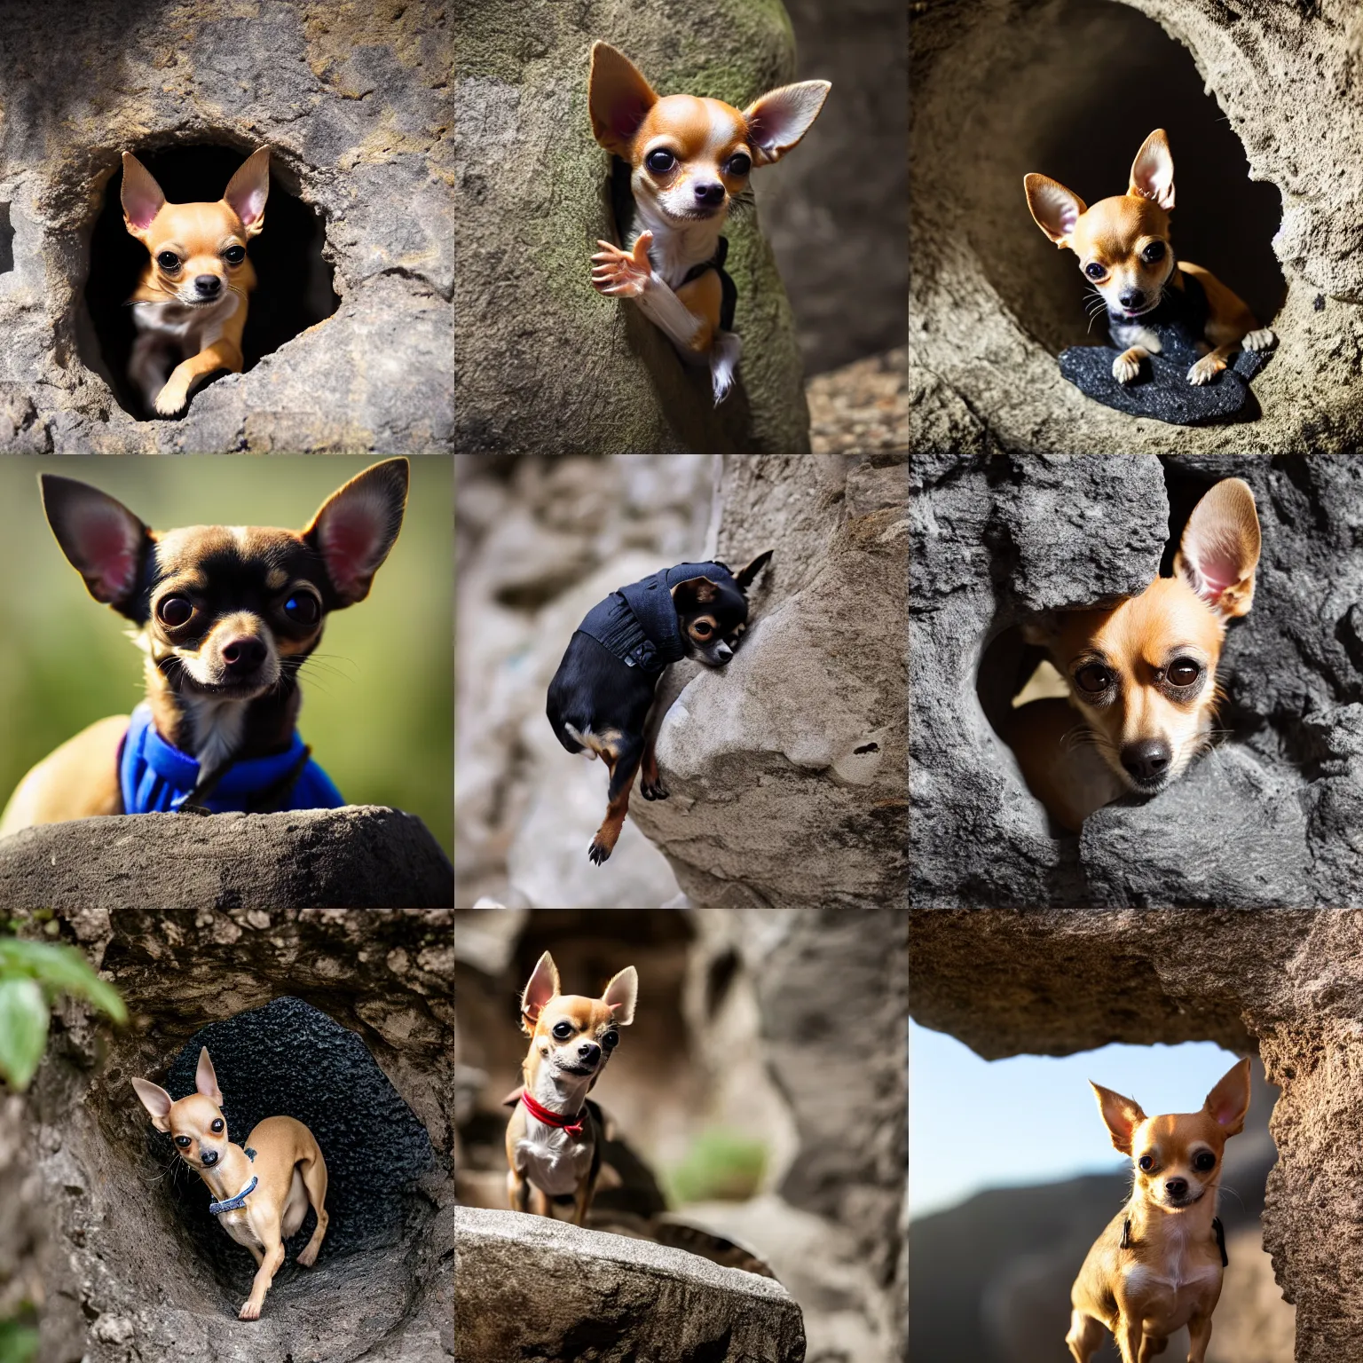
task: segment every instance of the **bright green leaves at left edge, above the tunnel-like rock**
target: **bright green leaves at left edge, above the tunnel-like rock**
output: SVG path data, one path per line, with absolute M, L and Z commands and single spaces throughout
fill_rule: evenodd
M 52 1003 L 63 994 L 93 1003 L 114 1022 L 128 1021 L 117 990 L 75 947 L 0 938 L 0 1078 L 19 1093 L 33 1082 L 48 1045 Z M 4 1359 L 0 1351 L 0 1363 Z

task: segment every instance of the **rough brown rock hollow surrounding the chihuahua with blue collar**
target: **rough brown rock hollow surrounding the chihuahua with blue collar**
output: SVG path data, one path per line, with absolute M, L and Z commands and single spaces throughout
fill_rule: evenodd
M 142 1025 L 110 1036 L 64 1007 L 25 1101 L 48 1206 L 44 1358 L 453 1358 L 448 916 L 89 909 L 63 923 Z M 233 1120 L 274 1103 L 311 1112 L 338 1174 L 337 1243 L 311 1270 L 286 1266 L 258 1322 L 236 1318 L 249 1259 L 211 1224 L 224 1244 L 203 1253 L 199 1180 L 168 1172 L 128 1084 L 169 1069 L 180 1093 L 184 1048 L 203 1040 Z M 383 1133 L 399 1172 L 369 1189 Z

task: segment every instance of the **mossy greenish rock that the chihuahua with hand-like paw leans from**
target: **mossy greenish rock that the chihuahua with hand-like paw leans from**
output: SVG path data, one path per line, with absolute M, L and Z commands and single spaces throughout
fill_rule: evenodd
M 720 408 L 705 369 L 686 367 L 637 307 L 598 294 L 589 279 L 593 243 L 616 234 L 609 158 L 587 117 L 593 41 L 617 46 L 660 93 L 743 108 L 792 78 L 781 5 L 717 0 L 703 11 L 622 11 L 605 0 L 571 8 L 462 0 L 454 15 L 459 447 L 807 450 L 791 307 L 756 214 L 731 219 L 725 233 L 743 360 Z M 819 136 L 818 124 L 810 136 Z

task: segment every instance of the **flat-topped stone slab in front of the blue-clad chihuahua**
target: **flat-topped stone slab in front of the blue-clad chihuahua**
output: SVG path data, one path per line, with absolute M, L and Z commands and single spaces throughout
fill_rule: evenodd
M 0 841 L 10 908 L 443 908 L 453 893 L 431 830 L 382 806 L 110 815 Z

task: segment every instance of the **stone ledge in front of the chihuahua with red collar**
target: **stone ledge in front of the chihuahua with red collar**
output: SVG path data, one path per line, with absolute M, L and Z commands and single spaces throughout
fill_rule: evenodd
M 773 1278 L 519 1212 L 458 1208 L 461 1363 L 803 1363 L 800 1308 Z

